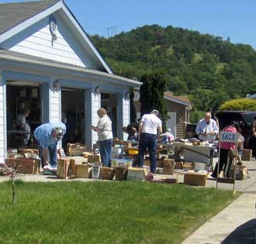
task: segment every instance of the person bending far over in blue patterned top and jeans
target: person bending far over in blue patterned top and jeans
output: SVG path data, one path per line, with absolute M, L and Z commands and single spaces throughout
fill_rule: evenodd
M 66 125 L 62 122 L 52 122 L 40 125 L 34 132 L 34 137 L 40 146 L 41 162 L 43 170 L 57 169 L 57 143 L 63 139 L 66 133 Z M 47 161 L 48 152 L 50 162 Z

